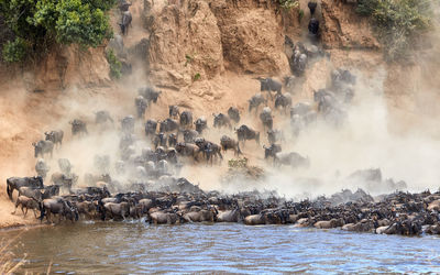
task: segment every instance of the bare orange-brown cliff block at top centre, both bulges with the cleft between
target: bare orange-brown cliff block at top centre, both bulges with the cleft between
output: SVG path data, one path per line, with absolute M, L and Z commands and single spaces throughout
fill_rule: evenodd
M 280 15 L 271 1 L 189 0 L 164 6 L 153 19 L 147 64 L 158 86 L 180 89 L 224 70 L 289 72 Z

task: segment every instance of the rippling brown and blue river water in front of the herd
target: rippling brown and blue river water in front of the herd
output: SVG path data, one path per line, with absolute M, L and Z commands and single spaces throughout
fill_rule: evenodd
M 77 222 L 21 233 L 9 248 L 23 272 L 52 273 L 272 273 L 436 272 L 440 238 L 406 238 L 235 223 L 150 226 Z

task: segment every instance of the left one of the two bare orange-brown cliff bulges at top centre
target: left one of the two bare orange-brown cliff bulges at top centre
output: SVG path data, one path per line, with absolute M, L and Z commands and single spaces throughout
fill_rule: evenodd
M 150 78 L 164 87 L 178 89 L 224 69 L 217 18 L 206 1 L 165 6 L 153 22 L 148 50 Z

